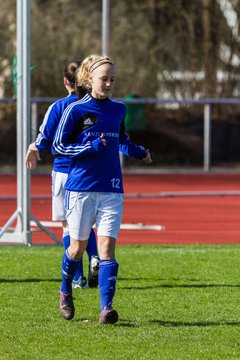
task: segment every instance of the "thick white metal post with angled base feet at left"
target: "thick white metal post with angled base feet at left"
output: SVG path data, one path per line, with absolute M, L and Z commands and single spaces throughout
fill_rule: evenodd
M 30 220 L 45 231 L 55 242 L 62 242 L 40 221 L 31 216 L 30 170 L 25 166 L 25 155 L 31 139 L 30 94 L 30 0 L 17 0 L 17 209 L 0 231 L 6 242 L 32 244 Z M 13 233 L 7 233 L 17 219 Z

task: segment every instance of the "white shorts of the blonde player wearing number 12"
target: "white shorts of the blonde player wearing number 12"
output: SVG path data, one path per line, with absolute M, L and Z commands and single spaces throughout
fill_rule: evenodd
M 66 191 L 65 208 L 73 239 L 87 240 L 94 224 L 98 236 L 117 239 L 122 221 L 123 194 Z

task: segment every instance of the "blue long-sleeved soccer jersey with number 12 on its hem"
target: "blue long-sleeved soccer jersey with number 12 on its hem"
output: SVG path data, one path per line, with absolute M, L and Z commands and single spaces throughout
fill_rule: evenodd
M 131 157 L 146 156 L 145 149 L 124 134 L 125 116 L 125 104 L 108 98 L 88 96 L 66 108 L 53 146 L 57 153 L 72 159 L 67 190 L 123 192 L 119 149 Z M 101 142 L 102 134 L 106 146 Z

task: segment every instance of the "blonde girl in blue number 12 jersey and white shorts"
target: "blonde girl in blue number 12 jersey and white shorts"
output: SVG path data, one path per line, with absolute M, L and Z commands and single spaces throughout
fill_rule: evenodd
M 109 57 L 91 55 L 79 67 L 77 84 L 89 95 L 64 111 L 54 148 L 71 157 L 66 182 L 65 207 L 71 243 L 63 256 L 60 313 L 74 317 L 72 278 L 96 224 L 100 257 L 100 324 L 115 323 L 112 307 L 118 263 L 115 243 L 123 212 L 123 183 L 119 145 L 127 155 L 151 163 L 149 150 L 130 142 L 124 131 L 126 106 L 110 99 L 115 66 Z

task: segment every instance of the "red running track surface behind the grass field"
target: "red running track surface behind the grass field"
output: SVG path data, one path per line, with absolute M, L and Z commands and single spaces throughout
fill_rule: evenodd
M 240 175 L 124 175 L 124 186 L 126 199 L 123 224 L 163 225 L 166 229 L 121 230 L 118 244 L 240 243 L 240 196 L 206 194 L 217 191 L 240 192 Z M 173 196 L 176 192 L 185 196 Z M 195 192 L 205 192 L 205 196 L 199 196 Z M 165 193 L 166 196 L 147 197 L 147 194 L 157 193 Z M 33 175 L 31 194 L 50 197 L 50 176 Z M 133 194 L 136 197 L 129 197 Z M 16 200 L 3 200 L 3 197 L 14 195 L 16 177 L 0 175 L 0 226 L 3 226 L 16 210 Z M 32 200 L 31 214 L 40 221 L 50 221 L 51 199 Z M 50 230 L 61 238 L 61 229 Z M 41 231 L 33 232 L 32 241 L 33 244 L 54 243 Z

